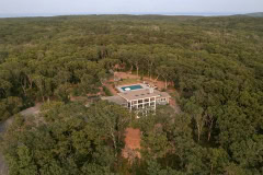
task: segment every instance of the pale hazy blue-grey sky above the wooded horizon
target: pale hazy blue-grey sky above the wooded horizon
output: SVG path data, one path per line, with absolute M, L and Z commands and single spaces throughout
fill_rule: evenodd
M 0 14 L 249 12 L 263 12 L 263 0 L 0 0 Z

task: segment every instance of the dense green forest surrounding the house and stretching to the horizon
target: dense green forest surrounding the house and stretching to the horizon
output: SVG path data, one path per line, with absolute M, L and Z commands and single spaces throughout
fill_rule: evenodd
M 133 119 L 98 94 L 116 65 L 175 88 L 181 114 Z M 19 112 L 42 102 L 38 117 Z M 0 19 L 0 151 L 10 175 L 263 174 L 263 18 Z M 140 159 L 122 156 L 141 130 Z

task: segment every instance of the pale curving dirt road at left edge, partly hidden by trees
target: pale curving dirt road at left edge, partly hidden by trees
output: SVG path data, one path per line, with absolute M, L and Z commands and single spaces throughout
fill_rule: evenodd
M 20 114 L 23 115 L 24 117 L 38 114 L 41 105 L 42 104 L 36 104 L 34 107 L 30 107 L 27 109 L 20 112 Z M 4 135 L 8 127 L 13 122 L 13 119 L 14 117 L 10 117 L 4 122 L 0 124 L 0 135 Z M 0 175 L 8 175 L 8 166 L 4 163 L 4 159 L 1 152 L 0 152 Z

